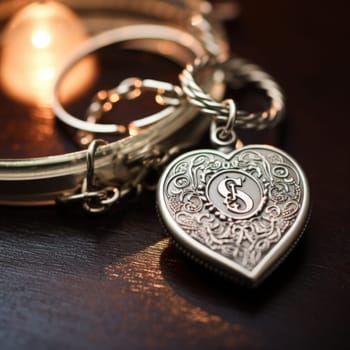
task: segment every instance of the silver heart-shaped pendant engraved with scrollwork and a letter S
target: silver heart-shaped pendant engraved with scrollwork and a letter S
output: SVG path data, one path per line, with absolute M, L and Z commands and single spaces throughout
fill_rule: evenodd
M 255 286 L 289 253 L 306 225 L 305 175 L 285 152 L 250 145 L 175 159 L 158 186 L 160 217 L 190 257 Z

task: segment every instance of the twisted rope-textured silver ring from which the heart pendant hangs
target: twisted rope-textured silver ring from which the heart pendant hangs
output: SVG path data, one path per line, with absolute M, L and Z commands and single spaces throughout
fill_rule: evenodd
M 197 58 L 193 64 L 187 65 L 179 76 L 182 89 L 187 95 L 188 101 L 210 116 L 230 120 L 230 106 L 219 102 L 210 94 L 204 92 L 203 88 L 195 80 L 197 71 L 208 66 L 209 57 Z M 216 65 L 216 62 L 212 64 Z M 232 87 L 242 87 L 253 84 L 261 90 L 265 97 L 270 100 L 268 109 L 251 113 L 237 110 L 235 112 L 234 126 L 242 129 L 265 129 L 273 127 L 280 121 L 284 114 L 284 96 L 280 86 L 275 80 L 259 66 L 252 64 L 242 58 L 233 57 L 224 63 L 219 63 L 225 81 Z

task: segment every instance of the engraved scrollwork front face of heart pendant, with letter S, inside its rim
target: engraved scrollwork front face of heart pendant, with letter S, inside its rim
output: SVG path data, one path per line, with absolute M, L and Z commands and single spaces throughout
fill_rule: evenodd
M 283 152 L 243 147 L 187 153 L 163 180 L 167 211 L 186 234 L 251 271 L 296 220 L 299 170 Z

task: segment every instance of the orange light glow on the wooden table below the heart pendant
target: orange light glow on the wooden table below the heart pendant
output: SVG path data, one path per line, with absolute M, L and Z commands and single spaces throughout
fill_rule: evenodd
M 221 336 L 227 339 L 227 346 L 231 349 L 254 343 L 254 336 L 250 335 L 239 323 L 227 320 L 224 314 L 213 313 L 210 307 L 203 307 L 203 303 L 197 302 L 198 295 L 200 295 L 199 280 L 193 282 L 192 285 L 189 284 L 186 289 L 183 285 L 186 281 L 181 280 L 182 274 L 175 276 L 174 273 L 174 277 L 166 278 L 166 274 L 163 273 L 164 267 L 169 273 L 172 270 L 172 268 L 169 269 L 169 265 L 179 264 L 175 261 L 179 257 L 175 258 L 173 253 L 166 254 L 166 263 L 161 262 L 161 257 L 168 246 L 169 239 L 158 241 L 134 254 L 116 259 L 116 262 L 105 267 L 104 272 L 109 279 L 122 280 L 123 283 L 119 283 L 125 288 L 123 292 L 128 293 L 130 298 L 136 300 L 136 303 L 141 300 L 141 303 L 137 305 L 143 305 L 143 317 L 151 318 L 157 312 L 158 316 L 166 317 L 163 323 L 159 323 L 159 328 L 157 328 L 159 334 L 165 334 L 167 337 L 174 336 L 173 330 L 167 328 L 167 325 L 169 320 L 175 319 L 179 320 L 178 327 L 181 334 L 192 338 L 205 335 L 210 339 Z M 195 272 L 193 272 L 193 277 L 198 277 Z M 193 289 L 193 286 L 196 286 L 197 289 Z M 183 294 L 179 293 L 184 290 L 186 292 Z M 220 289 L 216 294 L 226 298 Z M 230 305 L 229 299 L 225 303 Z M 201 326 L 195 327 L 196 324 Z

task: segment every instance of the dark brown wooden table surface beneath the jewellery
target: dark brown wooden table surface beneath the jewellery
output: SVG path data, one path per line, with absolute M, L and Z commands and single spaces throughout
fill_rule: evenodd
M 233 51 L 287 96 L 280 137 L 260 138 L 293 155 L 312 190 L 305 235 L 268 280 L 245 290 L 186 259 L 153 193 L 98 217 L 1 207 L 0 349 L 349 349 L 348 22 L 337 0 L 256 0 L 227 24 Z M 2 156 L 73 147 L 26 108 L 1 95 Z

